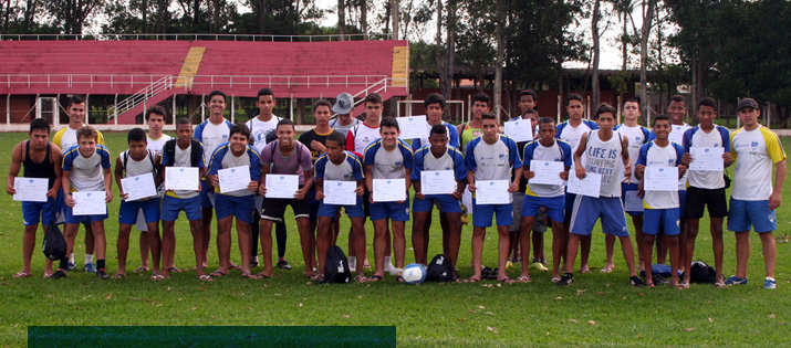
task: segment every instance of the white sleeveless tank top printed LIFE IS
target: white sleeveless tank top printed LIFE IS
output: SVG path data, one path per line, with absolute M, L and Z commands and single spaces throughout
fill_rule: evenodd
M 621 134 L 613 130 L 613 137 L 607 141 L 599 138 L 599 130 L 587 133 L 587 146 L 585 147 L 585 171 L 602 175 L 602 187 L 600 197 L 621 197 L 621 172 L 622 167 Z

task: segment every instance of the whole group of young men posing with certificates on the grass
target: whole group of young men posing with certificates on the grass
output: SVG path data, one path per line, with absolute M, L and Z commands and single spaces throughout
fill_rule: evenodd
M 538 95 L 533 91 L 519 94 L 521 119 L 530 119 L 534 129 L 533 140 L 517 143 L 500 133 L 497 117 L 490 113 L 490 99 L 477 94 L 472 99 L 471 118 L 454 126 L 443 120 L 446 101 L 431 94 L 424 103 L 427 116 L 428 137 L 402 139 L 398 122 L 382 117 L 384 107 L 381 96 L 365 97 L 364 119 L 352 117 L 354 101 L 342 94 L 335 105 L 320 99 L 313 105 L 315 128 L 298 138 L 293 122 L 272 115 L 274 95 L 268 88 L 258 94 L 260 114 L 247 124 L 232 125 L 223 117 L 226 95 L 216 91 L 209 94 L 210 116 L 192 129 L 191 122 L 177 122 L 177 138 L 162 134 L 166 116 L 162 107 L 146 112 L 148 135 L 139 128 L 128 133 L 128 150 L 118 155 L 115 179 L 121 188 L 122 203 L 118 212 L 119 232 L 117 242 L 118 271 L 115 277 L 126 276 L 128 239 L 133 224 L 147 232 L 140 234 L 143 265 L 136 271 L 147 271 L 150 265 L 153 280 L 162 280 L 171 272 L 180 272 L 174 265 L 174 225 L 180 211 L 185 211 L 194 239 L 196 275 L 202 281 L 229 274 L 230 268 L 241 270 L 242 277 L 267 278 L 273 275 L 272 228 L 277 226 L 278 264 L 290 268 L 284 259 L 284 212 L 290 205 L 296 222 L 304 275 L 321 281 L 327 250 L 335 245 L 340 234 L 341 210 L 351 220 L 348 234 L 350 267 L 356 272 L 357 282 L 375 282 L 385 273 L 400 278 L 406 260 L 406 222 L 412 221 L 412 244 L 417 263 L 427 264 L 431 209 L 438 207 L 443 231 L 443 254 L 454 268 L 461 244 L 462 222 L 466 213 L 472 214 L 471 265 L 472 275 L 466 282 L 479 282 L 483 277 L 507 283 L 530 282 L 532 265 L 550 271 L 544 257 L 543 232 L 551 226 L 552 282 L 569 285 L 573 282 L 574 262 L 580 251 L 581 273 L 590 272 L 591 234 L 601 219 L 606 235 L 606 263 L 602 272 L 614 267 L 613 249 L 617 238 L 629 271 L 633 286 L 654 286 L 664 278 L 652 275 L 653 249 L 657 244 L 657 260 L 665 263 L 669 250 L 672 283 L 689 286 L 689 265 L 698 233 L 698 221 L 708 207 L 717 270 L 717 286 L 746 284 L 747 260 L 750 252 L 749 231 L 754 229 L 763 243 L 767 277 L 764 287 L 774 288 L 774 239 L 777 229 L 774 209 L 780 205 L 780 191 L 785 177 L 785 154 L 776 134 L 758 123 L 760 109 L 750 98 L 738 105 L 743 127 L 733 134 L 715 125 L 716 104 L 702 98 L 697 104 L 699 125 L 684 123 L 687 114 L 683 96 L 674 96 L 668 106 L 668 116 L 653 119 L 652 128 L 638 125 L 639 103 L 629 99 L 624 104 L 624 123 L 617 125 L 615 108 L 600 105 L 593 120 L 584 119 L 583 98 L 571 94 L 566 98 L 569 120 L 556 125 L 551 117 L 539 117 Z M 54 144 L 48 141 L 50 126 L 35 119 L 31 123 L 30 140 L 20 143 L 12 152 L 11 170 L 7 191 L 15 193 L 13 182 L 20 167 L 24 176 L 50 180 L 49 200 L 23 202 L 25 233 L 23 243 L 24 266 L 15 277 L 30 275 L 30 259 L 35 240 L 35 230 L 56 223 L 59 198 L 64 202 L 64 235 L 72 253 L 81 223 L 86 229 L 85 270 L 93 264 L 95 272 L 107 278 L 104 223 L 107 214 L 74 215 L 72 192 L 104 191 L 106 202 L 112 201 L 111 158 L 100 133 L 83 126 L 84 101 L 73 97 L 69 103 L 70 124 L 55 134 Z M 331 120 L 332 114 L 337 114 Z M 410 144 L 412 145 L 410 145 Z M 722 168 L 736 162 L 733 180 L 724 177 L 724 170 L 699 170 L 694 165 L 699 150 L 721 148 Z M 562 168 L 556 178 L 547 178 L 547 170 L 531 166 Z M 200 183 L 195 190 L 165 190 L 167 170 L 199 168 Z M 652 168 L 662 167 L 662 168 Z M 655 169 L 677 168 L 678 190 L 655 190 L 651 177 Z M 772 186 L 772 168 L 777 168 Z M 222 169 L 249 169 L 250 182 L 235 191 L 222 190 L 218 172 Z M 572 171 L 573 169 L 573 171 Z M 675 175 L 674 169 L 673 175 Z M 455 179 L 450 193 L 424 194 L 421 184 L 426 172 L 439 175 L 446 171 Z M 122 179 L 152 175 L 158 194 L 142 200 L 127 200 Z M 292 198 L 268 196 L 268 175 L 299 177 L 299 187 Z M 555 176 L 552 175 L 552 176 Z M 597 179 L 597 194 L 568 192 L 572 181 L 586 182 Z M 395 201 L 374 200 L 374 180 L 403 180 L 406 192 Z M 560 180 L 559 180 L 560 179 Z M 675 179 L 673 179 L 675 180 Z M 327 184 L 348 181 L 348 190 L 356 194 L 355 204 L 327 203 Z M 579 181 L 579 182 L 577 182 Z M 730 211 L 726 202 L 726 181 L 732 182 Z M 491 190 L 481 191 L 480 184 L 504 182 L 508 202 L 488 203 Z M 547 183 L 552 182 L 552 183 Z M 675 181 L 674 181 L 675 182 Z M 242 182 L 244 184 L 244 182 Z M 675 186 L 675 183 L 673 183 Z M 332 188 L 336 190 L 335 188 Z M 414 190 L 414 198 L 409 192 Z M 685 194 L 686 192 L 689 194 Z M 63 194 L 65 192 L 65 194 Z M 350 192 L 351 194 L 351 192 Z M 485 198 L 486 194 L 487 198 Z M 483 202 L 479 203 L 482 200 Z M 412 201 L 412 207 L 410 207 Z M 637 203 L 635 203 L 635 201 Z M 625 208 L 626 207 L 626 208 Z M 636 207 L 636 208 L 635 208 Z M 412 210 L 412 214 L 410 214 Z M 632 215 L 637 241 L 637 260 L 629 238 L 625 213 Z M 211 220 L 217 220 L 217 251 L 219 267 L 205 274 L 208 266 L 208 247 L 211 239 Z M 736 232 L 737 272 L 722 277 L 722 219 L 728 217 L 728 229 Z M 236 218 L 241 264 L 230 260 L 231 225 Z M 374 228 L 374 267 L 371 278 L 365 276 L 367 238 L 365 219 Z M 486 230 L 496 221 L 498 233 L 498 266 L 489 270 L 482 265 Z M 159 234 L 162 221 L 162 236 Z M 531 235 L 532 233 L 532 235 Z M 260 234 L 263 270 L 251 271 L 258 265 L 257 245 Z M 392 234 L 392 236 L 391 236 Z M 92 241 L 89 243 L 89 235 Z M 529 259 L 533 243 L 533 259 Z M 395 255 L 395 265 L 391 261 Z M 152 255 L 148 262 L 148 255 Z M 522 263 L 521 273 L 510 278 L 507 268 Z M 73 254 L 61 261 L 53 272 L 48 262 L 45 275 L 52 278 L 66 276 L 73 270 Z M 638 268 L 646 273 L 645 284 L 637 275 Z M 678 271 L 684 276 L 679 280 Z M 458 273 L 455 274 L 459 278 Z

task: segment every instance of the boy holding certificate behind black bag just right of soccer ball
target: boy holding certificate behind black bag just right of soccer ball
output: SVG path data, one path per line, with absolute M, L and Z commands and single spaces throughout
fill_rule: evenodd
M 415 151 L 412 182 L 415 199 L 412 203 L 412 245 L 415 262 L 428 264 L 428 232 L 431 207 L 437 203 L 439 212 L 447 217 L 443 226 L 443 254 L 456 267 L 461 244 L 461 204 L 459 200 L 467 187 L 467 167 L 461 151 L 448 145 L 448 128 L 435 125 L 426 145 Z M 425 179 L 425 181 L 424 181 Z

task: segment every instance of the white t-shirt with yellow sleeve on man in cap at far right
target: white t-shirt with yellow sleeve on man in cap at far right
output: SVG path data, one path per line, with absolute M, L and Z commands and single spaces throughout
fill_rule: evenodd
M 736 160 L 732 199 L 764 201 L 772 194 L 772 166 L 785 159 L 780 138 L 767 127 L 743 127 L 730 136 L 731 156 Z

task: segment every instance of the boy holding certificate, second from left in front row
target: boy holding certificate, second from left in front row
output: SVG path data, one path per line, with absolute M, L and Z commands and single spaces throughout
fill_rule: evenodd
M 63 234 L 69 253 L 72 253 L 80 224 L 91 224 L 96 247 L 96 276 L 106 280 L 108 276 L 104 257 L 107 241 L 104 238 L 104 220 L 107 219 L 107 203 L 113 200 L 110 150 L 96 143 L 98 133 L 92 127 L 80 128 L 76 137 L 77 145 L 63 155 L 63 192 L 66 192 L 66 226 Z M 81 197 L 75 199 L 74 196 Z M 80 209 L 79 214 L 75 214 L 77 203 Z M 65 277 L 67 270 L 69 259 L 61 259 L 61 266 L 51 278 Z

